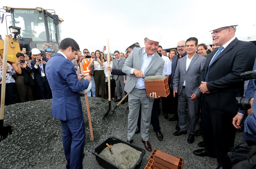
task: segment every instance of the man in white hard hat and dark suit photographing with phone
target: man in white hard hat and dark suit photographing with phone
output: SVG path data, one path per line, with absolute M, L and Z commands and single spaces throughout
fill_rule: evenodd
M 32 55 L 36 57 L 35 60 L 31 61 L 31 67 L 32 67 L 32 71 L 34 72 L 35 82 L 38 85 L 39 98 L 50 99 L 51 89 L 45 74 L 45 65 L 48 60 L 41 58 L 41 52 L 37 48 L 33 48 L 31 52 L 32 52 Z

